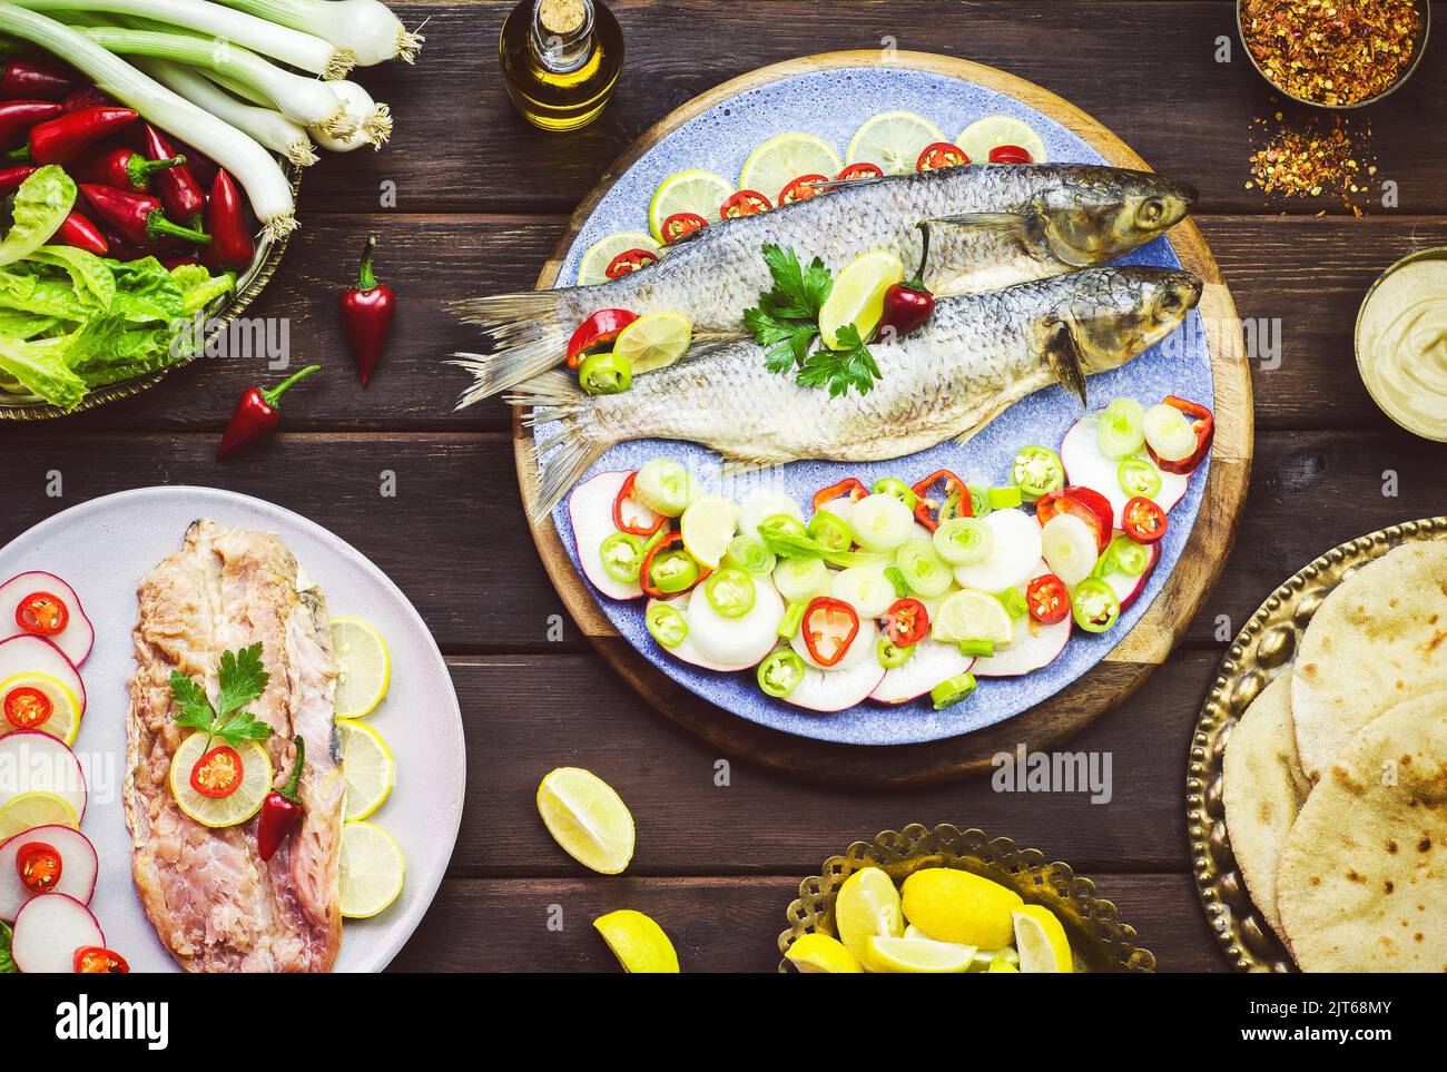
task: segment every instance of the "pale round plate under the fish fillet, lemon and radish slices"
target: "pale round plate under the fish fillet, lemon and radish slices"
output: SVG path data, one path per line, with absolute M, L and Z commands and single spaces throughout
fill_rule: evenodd
M 136 586 L 181 547 L 187 527 L 198 518 L 276 532 L 321 586 L 327 609 L 372 622 L 392 654 L 391 690 L 368 722 L 396 757 L 396 784 L 369 822 L 388 829 L 402 846 L 407 881 L 381 916 L 346 920 L 336 963 L 341 972 L 379 972 L 421 922 L 457 839 L 466 760 L 451 677 L 407 596 L 356 548 L 281 506 L 213 488 L 143 488 L 93 499 L 0 548 L 0 580 L 26 570 L 55 573 L 75 589 L 96 625 L 96 648 L 81 667 L 88 706 L 75 739 L 90 783 L 81 830 L 100 856 L 91 911 L 132 971 L 178 971 L 130 881 L 120 790 Z

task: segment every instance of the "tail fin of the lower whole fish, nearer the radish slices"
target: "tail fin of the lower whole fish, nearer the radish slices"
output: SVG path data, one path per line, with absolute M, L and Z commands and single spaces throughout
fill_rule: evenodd
M 522 418 L 525 425 L 559 425 L 534 447 L 538 479 L 527 508 L 528 516 L 540 521 L 616 440 L 599 428 L 589 395 L 564 372 L 546 372 L 530 379 L 504 401 L 532 407 L 532 412 Z

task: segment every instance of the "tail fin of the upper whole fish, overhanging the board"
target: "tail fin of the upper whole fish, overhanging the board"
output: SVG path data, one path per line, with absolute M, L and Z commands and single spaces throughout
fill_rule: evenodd
M 447 308 L 478 324 L 491 353 L 457 353 L 451 362 L 473 375 L 457 401 L 469 407 L 560 365 L 567 354 L 569 328 L 559 311 L 567 291 L 525 291 L 489 298 L 466 298 Z

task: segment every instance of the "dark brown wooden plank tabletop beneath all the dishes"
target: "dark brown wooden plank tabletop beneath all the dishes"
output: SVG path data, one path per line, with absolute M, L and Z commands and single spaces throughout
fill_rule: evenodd
M 328 156 L 307 174 L 302 227 L 252 310 L 289 321 L 294 360 L 328 366 L 288 398 L 285 434 L 233 464 L 213 459 L 237 394 L 272 378 L 259 357 L 200 360 L 139 398 L 0 427 L 0 543 L 98 495 L 195 483 L 298 511 L 391 574 L 447 655 L 469 768 L 449 880 L 395 969 L 615 971 L 589 924 L 634 907 L 669 930 L 684 971 L 770 971 L 784 909 L 826 856 L 883 829 L 952 822 L 1097 878 L 1163 971 L 1224 971 L 1184 820 L 1191 728 L 1223 638 L 1320 551 L 1443 512 L 1447 450 L 1378 412 L 1356 375 L 1351 326 L 1386 265 L 1447 243 L 1447 52 L 1430 48 L 1406 88 L 1359 113 L 1399 204 L 1356 220 L 1328 200 L 1281 216 L 1247 190 L 1250 122 L 1281 104 L 1240 49 L 1230 0 L 611 6 L 628 48 L 618 95 L 590 129 L 548 136 L 525 126 L 502 90 L 496 38 L 512 0 L 396 4 L 408 25 L 428 20 L 420 64 L 362 72 L 391 103 L 396 136 L 381 153 Z M 1447 4 L 1434 7 L 1447 16 Z M 996 793 L 988 780 L 858 791 L 745 761 L 719 777 L 725 757 L 631 694 L 566 621 L 522 522 L 506 409 L 451 411 L 463 376 L 443 359 L 472 340 L 441 302 L 530 285 L 567 213 L 644 129 L 755 67 L 890 41 L 1036 81 L 1156 169 L 1198 185 L 1197 218 L 1242 317 L 1279 321 L 1279 362 L 1253 369 L 1256 464 L 1221 582 L 1168 664 L 1069 745 L 1111 755 L 1108 804 Z M 1218 62 L 1223 42 L 1230 62 Z M 369 231 L 401 312 L 363 394 L 334 292 Z M 61 498 L 46 493 L 55 472 Z M 386 473 L 395 498 L 381 495 Z M 625 877 L 583 871 L 543 829 L 534 790 L 560 765 L 596 771 L 632 809 L 638 849 Z M 427 791 L 401 774 L 399 793 Z M 548 926 L 551 906 L 561 906 L 561 930 Z

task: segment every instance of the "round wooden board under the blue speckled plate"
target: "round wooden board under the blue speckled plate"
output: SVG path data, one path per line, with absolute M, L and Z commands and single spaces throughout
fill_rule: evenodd
M 554 284 L 567 249 L 618 176 L 679 126 L 745 90 L 807 71 L 844 67 L 900 67 L 972 81 L 1009 94 L 1056 120 L 1094 146 L 1108 163 L 1146 169 L 1145 161 L 1124 142 L 1074 104 L 991 67 L 928 52 L 896 52 L 887 58 L 878 51 L 805 56 L 724 82 L 645 132 L 603 172 L 598 185 L 573 213 L 561 242 L 538 276 L 537 289 Z M 754 760 L 816 781 L 904 787 L 978 774 L 990 770 L 990 760 L 997 752 L 1013 751 L 1022 742 L 1032 749 L 1049 748 L 1114 707 L 1166 660 L 1215 584 L 1236 538 L 1250 477 L 1252 378 L 1242 349 L 1236 305 L 1197 226 L 1187 220 L 1171 231 L 1169 239 L 1181 263 L 1205 281 L 1200 310 L 1215 389 L 1215 441 L 1211 447 L 1205 496 L 1175 571 L 1136 628 L 1090 673 L 1049 700 L 987 729 L 917 745 L 841 745 L 760 726 L 715 707 L 638 654 L 599 609 L 587 583 L 567 557 L 551 516 L 530 521 L 543 566 L 583 635 L 658 712 L 725 755 Z M 518 412 L 514 412 L 512 446 L 518 485 L 527 502 L 537 485 L 537 466 L 532 460 L 532 434 L 522 427 Z

